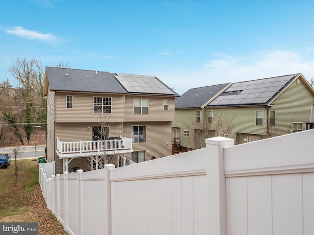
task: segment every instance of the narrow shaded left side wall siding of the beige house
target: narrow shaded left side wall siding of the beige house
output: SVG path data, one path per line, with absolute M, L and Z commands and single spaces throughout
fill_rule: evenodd
M 47 94 L 47 161 L 55 160 L 54 146 L 54 92 L 48 90 Z

